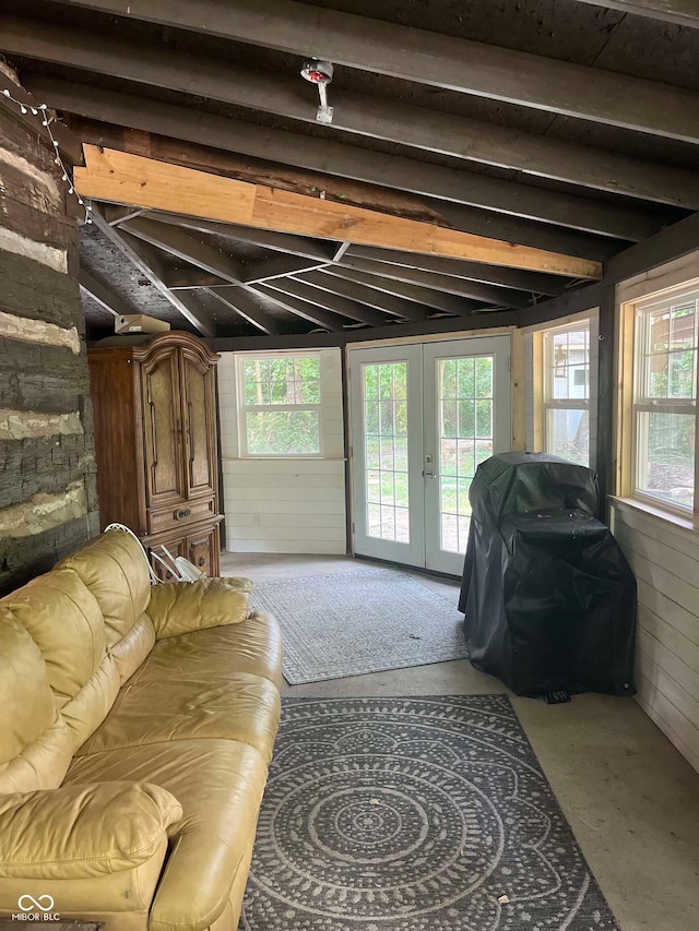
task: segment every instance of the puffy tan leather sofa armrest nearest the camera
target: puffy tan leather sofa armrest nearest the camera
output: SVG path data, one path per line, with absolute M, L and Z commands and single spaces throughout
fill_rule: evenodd
M 139 867 L 182 808 L 149 783 L 96 783 L 0 796 L 0 882 L 82 880 Z

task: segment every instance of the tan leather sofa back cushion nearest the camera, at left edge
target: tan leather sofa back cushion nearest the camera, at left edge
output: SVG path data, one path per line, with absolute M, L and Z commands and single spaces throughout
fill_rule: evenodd
M 40 650 L 10 609 L 0 605 L 0 765 L 40 737 L 56 716 Z

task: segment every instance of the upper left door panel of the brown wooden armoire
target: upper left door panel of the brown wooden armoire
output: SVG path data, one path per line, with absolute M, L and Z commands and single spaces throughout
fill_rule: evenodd
M 177 354 L 158 354 L 143 363 L 143 429 L 146 504 L 186 500 Z

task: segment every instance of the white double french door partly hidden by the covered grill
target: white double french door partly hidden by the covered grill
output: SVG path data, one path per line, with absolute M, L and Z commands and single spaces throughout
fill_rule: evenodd
M 476 467 L 511 443 L 510 337 L 350 351 L 355 551 L 454 575 Z

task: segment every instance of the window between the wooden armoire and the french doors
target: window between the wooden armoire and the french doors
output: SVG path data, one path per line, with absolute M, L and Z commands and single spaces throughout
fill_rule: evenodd
M 246 354 L 237 362 L 242 455 L 321 455 L 320 354 Z

